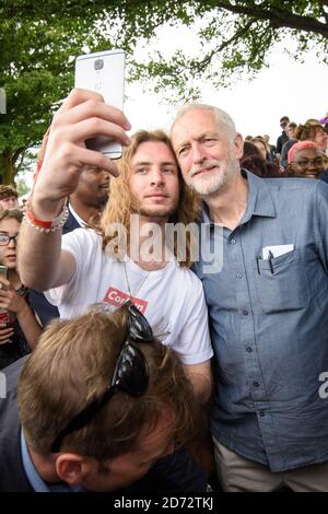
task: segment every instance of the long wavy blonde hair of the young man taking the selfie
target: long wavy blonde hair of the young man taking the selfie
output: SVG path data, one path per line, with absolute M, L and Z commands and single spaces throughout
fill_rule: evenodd
M 140 214 L 140 205 L 136 198 L 131 195 L 129 187 L 129 177 L 130 177 L 130 163 L 136 154 L 139 145 L 143 142 L 161 142 L 166 144 L 166 147 L 175 155 L 168 136 L 162 130 L 139 130 L 131 138 L 131 144 L 128 148 L 125 148 L 122 151 L 122 156 L 118 161 L 119 176 L 110 182 L 110 194 L 109 200 L 106 205 L 106 208 L 103 212 L 103 215 L 99 220 L 97 231 L 102 234 L 103 237 L 103 248 L 109 248 L 112 254 L 119 260 L 124 257 L 120 252 L 120 247 L 124 246 L 122 237 L 126 241 L 130 241 L 130 215 Z M 176 161 L 178 168 L 178 178 L 180 185 L 179 191 L 179 201 L 176 209 L 176 212 L 168 219 L 168 223 L 181 223 L 187 226 L 189 223 L 198 222 L 200 218 L 200 200 L 195 195 L 191 189 L 185 184 L 180 168 Z M 119 225 L 124 226 L 126 232 L 122 234 L 119 230 Z M 115 235 L 108 235 L 108 226 L 117 226 Z M 116 242 L 114 245 L 114 237 Z M 186 252 L 184 258 L 179 258 L 179 264 L 183 267 L 190 267 L 191 261 L 191 245 L 194 244 L 194 236 L 191 233 L 187 234 L 186 237 Z M 173 253 L 177 258 L 178 244 L 175 240 Z

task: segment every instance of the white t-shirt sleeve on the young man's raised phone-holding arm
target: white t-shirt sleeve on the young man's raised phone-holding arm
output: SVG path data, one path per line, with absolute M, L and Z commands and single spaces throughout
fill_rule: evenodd
M 58 288 L 49 289 L 45 292 L 45 296 L 52 305 L 59 306 L 62 303 L 73 301 L 75 289 L 79 285 L 79 277 L 82 273 L 83 262 L 86 262 L 85 248 L 90 248 L 91 238 L 86 229 L 77 229 L 65 234 L 61 240 L 61 249 L 69 252 L 75 259 L 77 269 L 71 280 Z

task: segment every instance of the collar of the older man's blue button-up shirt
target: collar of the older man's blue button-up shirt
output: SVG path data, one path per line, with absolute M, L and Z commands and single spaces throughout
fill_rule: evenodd
M 260 178 L 247 170 L 242 170 L 242 175 L 248 182 L 248 199 L 245 214 L 241 220 L 241 224 L 247 223 L 253 215 L 276 218 L 277 211 L 270 192 L 270 188 L 266 180 Z M 209 208 L 206 202 L 202 202 L 202 223 L 213 222 L 210 219 Z

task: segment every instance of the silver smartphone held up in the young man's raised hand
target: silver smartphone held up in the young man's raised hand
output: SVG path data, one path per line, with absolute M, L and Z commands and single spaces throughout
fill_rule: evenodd
M 77 57 L 75 87 L 96 91 L 105 104 L 122 110 L 125 95 L 124 50 L 105 50 Z M 86 148 L 104 153 L 110 159 L 121 156 L 121 145 L 104 136 L 85 141 Z

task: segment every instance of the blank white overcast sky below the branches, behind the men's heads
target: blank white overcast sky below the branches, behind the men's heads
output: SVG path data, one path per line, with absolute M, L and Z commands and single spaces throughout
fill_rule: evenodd
M 257 79 L 249 82 L 243 78 L 231 89 L 213 90 L 210 84 L 201 85 L 202 102 L 226 110 L 244 137 L 268 133 L 272 143 L 281 133 L 281 116 L 286 115 L 298 124 L 307 118 L 323 118 L 328 112 L 328 67 L 317 62 L 315 52 L 308 54 L 301 65 L 281 47 L 276 48 L 270 68 L 260 71 Z M 125 112 L 132 131 L 168 129 L 175 107 L 163 104 L 159 95 L 142 93 L 137 86 L 128 84 L 126 92 Z

